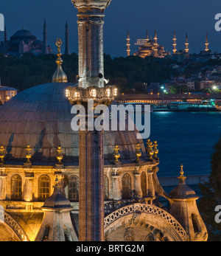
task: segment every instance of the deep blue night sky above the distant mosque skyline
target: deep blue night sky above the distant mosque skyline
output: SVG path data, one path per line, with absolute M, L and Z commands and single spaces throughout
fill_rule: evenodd
M 38 39 L 43 38 L 43 21 L 46 18 L 48 44 L 55 50 L 56 38 L 64 41 L 66 20 L 69 22 L 71 52 L 77 52 L 77 10 L 71 0 L 7 0 L 0 2 L 7 36 L 24 27 Z M 221 13 L 217 0 L 113 0 L 105 14 L 105 53 L 111 57 L 126 56 L 127 28 L 130 30 L 131 53 L 137 46 L 136 38 L 145 38 L 146 30 L 158 32 L 158 44 L 172 52 L 173 28 L 177 33 L 177 48 L 183 49 L 186 31 L 189 35 L 190 53 L 205 48 L 206 32 L 212 52 L 221 52 L 221 32 L 214 29 L 214 17 Z M 0 40 L 4 32 L 0 32 Z

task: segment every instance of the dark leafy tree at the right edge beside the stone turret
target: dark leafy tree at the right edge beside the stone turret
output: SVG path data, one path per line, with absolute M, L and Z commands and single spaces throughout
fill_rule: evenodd
M 221 137 L 214 146 L 209 181 L 200 184 L 200 191 L 202 197 L 198 207 L 208 229 L 208 241 L 221 241 L 221 223 L 215 221 L 218 213 L 215 208 L 221 205 Z

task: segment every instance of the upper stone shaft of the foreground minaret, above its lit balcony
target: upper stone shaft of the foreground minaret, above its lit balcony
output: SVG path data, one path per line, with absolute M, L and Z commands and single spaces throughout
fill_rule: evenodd
M 79 86 L 104 87 L 104 15 L 78 15 Z

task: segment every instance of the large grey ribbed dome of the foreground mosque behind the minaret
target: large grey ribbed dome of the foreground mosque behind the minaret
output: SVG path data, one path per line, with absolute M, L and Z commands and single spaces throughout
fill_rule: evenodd
M 33 165 L 55 165 L 57 148 L 63 150 L 63 164 L 78 166 L 79 136 L 71 130 L 72 105 L 66 88 L 73 83 L 46 83 L 21 91 L 0 107 L 0 142 L 6 150 L 4 162 L 20 165 L 26 162 L 27 145 L 32 148 Z M 126 125 L 127 127 L 127 125 Z M 136 159 L 135 131 L 105 131 L 105 165 L 113 164 L 113 148 L 119 145 L 122 163 Z

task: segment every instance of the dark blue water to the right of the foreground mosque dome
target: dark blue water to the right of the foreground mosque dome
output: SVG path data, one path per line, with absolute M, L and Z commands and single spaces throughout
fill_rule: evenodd
M 158 176 L 211 172 L 211 155 L 221 135 L 221 112 L 154 112 L 151 141 L 158 141 Z

